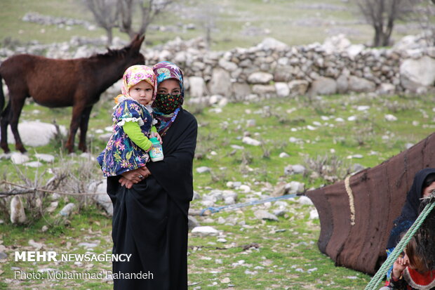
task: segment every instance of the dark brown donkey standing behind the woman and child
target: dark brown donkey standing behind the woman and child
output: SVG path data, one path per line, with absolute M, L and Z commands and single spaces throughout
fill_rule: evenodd
M 72 106 L 72 119 L 65 147 L 74 151 L 74 136 L 80 127 L 79 149 L 86 151 L 86 131 L 92 107 L 100 99 L 100 94 L 115 81 L 121 79 L 123 72 L 131 65 L 145 64 L 139 52 L 145 37 L 137 35 L 131 44 L 119 50 L 90 58 L 55 60 L 37 55 L 14 55 L 0 65 L 0 112 L 5 98 L 1 78 L 9 89 L 9 102 L 1 112 L 0 146 L 8 153 L 8 124 L 15 138 L 15 148 L 25 152 L 18 133 L 20 118 L 25 99 L 32 97 L 36 103 L 46 107 Z

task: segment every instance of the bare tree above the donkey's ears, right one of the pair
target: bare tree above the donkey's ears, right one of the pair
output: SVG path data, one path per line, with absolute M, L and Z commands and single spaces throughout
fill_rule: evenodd
M 148 25 L 156 15 L 165 11 L 166 7 L 175 0 L 119 0 L 119 17 L 121 32 L 126 32 L 131 39 L 136 34 L 145 34 Z M 137 9 L 135 9 L 135 7 Z M 140 22 L 138 27 L 133 27 L 133 12 L 140 11 Z

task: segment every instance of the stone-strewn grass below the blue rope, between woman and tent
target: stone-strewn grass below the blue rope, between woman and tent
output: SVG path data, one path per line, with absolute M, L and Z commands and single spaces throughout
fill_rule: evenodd
M 299 213 L 309 209 L 309 206 L 293 206 Z M 191 247 L 198 246 L 189 251 L 189 258 L 194 261 L 189 267 L 190 281 L 201 282 L 199 285 L 205 289 L 224 289 L 227 284 L 234 285 L 234 289 L 304 289 L 308 285 L 316 285 L 314 289 L 361 289 L 368 282 L 368 276 L 335 268 L 333 261 L 319 253 L 316 247 L 319 225 L 303 214 L 291 222 L 290 218 L 284 218 L 285 223 L 248 222 L 247 216 L 243 218 L 249 227 L 245 230 L 238 225 L 212 224 L 225 232 L 225 244 L 201 237 L 189 240 Z M 209 246 L 199 247 L 203 244 Z M 257 244 L 257 247 L 241 249 L 248 244 Z M 222 249 L 225 246 L 229 249 Z M 211 277 L 210 269 L 213 269 Z M 331 270 L 337 271 L 337 275 L 331 275 Z M 359 278 L 349 278 L 351 276 Z

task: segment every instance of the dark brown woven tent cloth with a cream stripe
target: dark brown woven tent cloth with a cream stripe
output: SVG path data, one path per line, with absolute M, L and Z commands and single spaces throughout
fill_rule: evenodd
M 435 168 L 435 133 L 386 162 L 305 192 L 319 211 L 319 249 L 335 265 L 374 274 L 415 173 Z

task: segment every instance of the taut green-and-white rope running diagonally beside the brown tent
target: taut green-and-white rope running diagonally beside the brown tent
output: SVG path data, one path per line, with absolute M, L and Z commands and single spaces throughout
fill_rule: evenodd
M 417 220 L 411 225 L 408 232 L 402 237 L 399 244 L 397 244 L 396 248 L 391 252 L 391 254 L 388 256 L 387 260 L 382 264 L 382 266 L 377 270 L 375 276 L 368 282 L 365 290 L 375 290 L 377 289 L 379 283 L 382 281 L 384 276 L 387 274 L 388 269 L 393 265 L 394 261 L 396 261 L 396 258 L 399 256 L 399 254 L 405 249 L 406 244 L 412 239 L 412 237 L 415 235 L 415 232 L 420 228 L 426 217 L 429 215 L 432 209 L 434 209 L 435 202 L 434 202 L 434 192 L 431 193 L 430 197 L 427 197 L 428 199 L 431 199 L 429 204 L 426 204 L 424 206 L 423 211 L 418 216 Z

